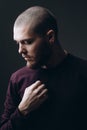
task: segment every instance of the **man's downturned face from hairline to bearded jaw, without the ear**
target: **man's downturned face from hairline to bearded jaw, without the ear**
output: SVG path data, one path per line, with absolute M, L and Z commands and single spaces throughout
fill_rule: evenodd
M 51 55 L 47 37 L 29 32 L 29 27 L 14 28 L 14 40 L 19 46 L 19 54 L 27 61 L 29 68 L 43 66 Z

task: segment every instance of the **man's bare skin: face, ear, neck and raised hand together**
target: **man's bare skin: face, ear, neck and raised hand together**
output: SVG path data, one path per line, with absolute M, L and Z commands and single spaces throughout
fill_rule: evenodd
M 27 61 L 27 66 L 31 69 L 43 66 L 55 67 L 65 57 L 65 52 L 55 44 L 53 30 L 49 30 L 45 36 L 40 37 L 31 33 L 29 26 L 14 27 L 14 40 L 19 46 L 19 54 Z M 19 111 L 25 116 L 40 107 L 48 98 L 47 91 L 45 84 L 42 84 L 41 81 L 36 81 L 28 86 L 18 106 Z

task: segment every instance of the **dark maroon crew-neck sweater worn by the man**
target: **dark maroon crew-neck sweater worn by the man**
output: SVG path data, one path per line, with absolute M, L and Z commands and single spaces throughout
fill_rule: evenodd
M 23 116 L 18 104 L 36 80 L 46 84 L 49 98 Z M 0 130 L 87 129 L 87 61 L 69 54 L 53 69 L 23 67 L 10 78 L 4 107 Z

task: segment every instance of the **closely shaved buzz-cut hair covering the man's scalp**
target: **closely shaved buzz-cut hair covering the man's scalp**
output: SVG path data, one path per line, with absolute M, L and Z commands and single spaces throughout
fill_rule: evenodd
M 27 26 L 29 31 L 39 35 L 44 35 L 50 29 L 55 32 L 56 37 L 58 33 L 55 16 L 40 6 L 31 7 L 17 17 L 14 28 L 21 26 Z

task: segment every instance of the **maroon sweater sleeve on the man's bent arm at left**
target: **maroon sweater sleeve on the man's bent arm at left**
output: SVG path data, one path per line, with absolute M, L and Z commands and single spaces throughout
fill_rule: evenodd
M 0 121 L 0 130 L 24 130 L 24 123 L 28 117 L 21 115 L 18 110 L 19 99 L 15 87 L 15 84 L 10 79 L 4 103 L 4 112 Z

